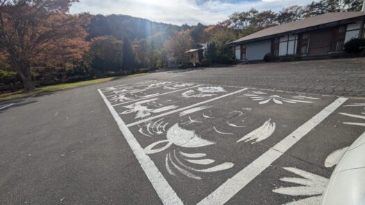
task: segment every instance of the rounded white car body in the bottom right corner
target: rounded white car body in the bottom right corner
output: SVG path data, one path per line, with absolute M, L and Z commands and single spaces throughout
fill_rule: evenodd
M 322 205 L 365 204 L 365 132 L 343 154 L 322 197 Z

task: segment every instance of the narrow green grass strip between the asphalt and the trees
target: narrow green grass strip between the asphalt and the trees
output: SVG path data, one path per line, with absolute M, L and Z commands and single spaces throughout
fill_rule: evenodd
M 9 93 L 0 94 L 0 101 L 9 100 L 9 99 L 17 99 L 17 98 L 21 98 L 21 97 L 29 97 L 32 95 L 37 95 L 37 94 L 45 93 L 45 92 L 66 90 L 66 89 L 77 88 L 77 87 L 81 87 L 81 86 L 85 86 L 85 85 L 104 83 L 104 82 L 108 82 L 108 81 L 115 81 L 117 79 L 130 78 L 130 77 L 134 77 L 134 76 L 143 76 L 143 75 L 145 75 L 145 73 L 133 74 L 133 75 L 129 75 L 129 76 L 115 76 L 115 77 L 110 77 L 110 78 L 95 79 L 95 80 L 90 80 L 90 81 L 81 81 L 81 82 L 76 82 L 76 83 L 63 83 L 63 84 L 58 84 L 58 85 L 48 85 L 48 86 L 44 86 L 44 87 L 40 87 L 40 88 L 35 88 L 35 90 L 30 91 L 30 92 L 25 92 L 23 90 L 20 90 L 17 92 L 9 92 Z

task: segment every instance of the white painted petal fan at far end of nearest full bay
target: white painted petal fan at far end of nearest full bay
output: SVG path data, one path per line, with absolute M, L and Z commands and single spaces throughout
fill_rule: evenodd
M 304 95 L 293 96 L 292 99 L 280 97 L 279 95 L 268 95 L 266 92 L 252 91 L 252 94 L 245 94 L 245 97 L 250 97 L 254 101 L 259 101 L 259 104 L 267 104 L 273 101 L 275 104 L 282 105 L 284 103 L 296 104 L 296 103 L 306 103 L 311 104 L 313 101 L 307 101 L 304 99 L 318 99 L 316 97 L 306 97 Z

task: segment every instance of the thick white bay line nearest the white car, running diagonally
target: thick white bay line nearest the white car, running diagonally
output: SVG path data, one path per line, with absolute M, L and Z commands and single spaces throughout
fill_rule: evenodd
M 347 98 L 340 97 L 336 99 L 332 104 L 321 110 L 318 114 L 314 115 L 310 120 L 302 124 L 295 131 L 286 136 L 283 140 L 278 142 L 274 147 L 266 151 L 259 156 L 250 165 L 243 168 L 234 177 L 228 179 L 219 188 L 214 190 L 209 196 L 202 199 L 198 204 L 225 204 L 231 199 L 237 192 L 245 188 L 254 178 L 256 178 L 263 170 L 266 170 L 274 161 L 277 160 L 282 154 L 290 149 L 296 142 L 302 139 L 309 131 L 314 129 L 318 124 L 323 122 L 326 117 L 339 108 Z

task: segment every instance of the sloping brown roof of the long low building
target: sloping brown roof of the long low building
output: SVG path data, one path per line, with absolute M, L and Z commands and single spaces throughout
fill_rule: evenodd
M 256 38 L 263 38 L 269 35 L 275 35 L 279 33 L 288 33 L 291 31 L 297 31 L 302 28 L 310 28 L 313 26 L 319 26 L 321 24 L 329 24 L 332 22 L 339 22 L 341 20 L 352 19 L 356 17 L 365 17 L 365 12 L 337 12 L 337 13 L 325 13 L 323 15 L 318 15 L 315 17 L 309 17 L 296 22 L 290 22 L 287 24 L 282 24 L 279 26 L 273 26 L 270 28 L 265 28 L 256 33 L 246 35 L 243 38 L 230 42 L 229 44 L 234 44 L 235 42 L 243 42 L 248 40 L 254 40 Z

